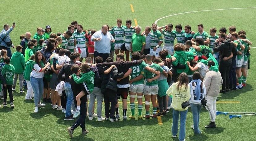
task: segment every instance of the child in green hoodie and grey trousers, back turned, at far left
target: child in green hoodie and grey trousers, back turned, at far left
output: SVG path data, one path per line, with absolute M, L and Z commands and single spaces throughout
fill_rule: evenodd
M 16 51 L 12 56 L 11 56 L 11 61 L 10 64 L 12 64 L 14 66 L 15 71 L 14 71 L 14 83 L 13 83 L 13 88 L 12 91 L 15 91 L 15 87 L 16 87 L 16 82 L 18 79 L 18 75 L 19 75 L 19 92 L 20 93 L 24 93 L 24 91 L 22 90 L 23 88 L 23 72 L 24 72 L 24 68 L 25 68 L 25 58 L 23 56 L 23 54 L 21 54 L 22 52 L 22 46 L 18 45 L 16 46 Z

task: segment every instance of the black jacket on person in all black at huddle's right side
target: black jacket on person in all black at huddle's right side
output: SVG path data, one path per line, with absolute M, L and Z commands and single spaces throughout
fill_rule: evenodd
M 223 60 L 224 57 L 229 57 L 231 55 L 231 52 L 233 52 L 234 48 L 234 44 L 230 43 L 228 41 L 225 41 L 223 43 L 221 43 L 220 45 L 218 45 L 217 47 L 214 47 L 214 51 L 215 52 L 220 52 L 220 63 L 222 64 L 231 64 L 232 63 L 232 59 L 228 59 L 228 60 Z M 234 54 L 233 54 L 234 56 Z

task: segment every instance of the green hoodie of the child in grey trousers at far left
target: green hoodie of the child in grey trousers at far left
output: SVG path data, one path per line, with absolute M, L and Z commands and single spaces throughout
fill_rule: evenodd
M 15 52 L 11 56 L 10 64 L 15 68 L 14 73 L 23 74 L 25 68 L 25 58 L 21 52 Z

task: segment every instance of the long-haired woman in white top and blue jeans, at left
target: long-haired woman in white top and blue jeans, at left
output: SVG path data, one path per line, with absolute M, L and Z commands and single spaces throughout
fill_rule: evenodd
M 44 72 L 49 65 L 49 62 L 47 62 L 47 64 L 45 65 L 45 57 L 42 55 L 42 53 L 40 51 L 36 52 L 35 62 L 32 67 L 32 72 L 30 74 L 30 82 L 34 91 L 34 113 L 38 112 L 38 107 L 45 106 L 45 104 L 41 103 L 40 100 L 44 92 Z

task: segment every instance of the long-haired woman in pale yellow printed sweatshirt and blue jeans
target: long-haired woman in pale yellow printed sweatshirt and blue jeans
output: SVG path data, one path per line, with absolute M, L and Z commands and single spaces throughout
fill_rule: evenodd
M 173 138 L 177 137 L 178 133 L 178 122 L 180 114 L 180 133 L 179 140 L 185 140 L 186 135 L 186 117 L 188 112 L 188 105 L 186 107 L 182 106 L 183 102 L 187 102 L 190 95 L 190 86 L 188 81 L 188 75 L 186 73 L 181 73 L 177 82 L 173 83 L 170 88 L 166 91 L 166 94 L 173 96 L 172 107 L 173 107 L 173 126 L 172 134 Z

